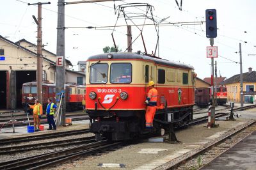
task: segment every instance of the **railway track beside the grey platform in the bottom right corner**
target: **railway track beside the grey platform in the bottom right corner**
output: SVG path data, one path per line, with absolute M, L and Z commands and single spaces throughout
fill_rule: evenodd
M 251 128 L 248 128 L 251 127 Z M 200 149 L 189 151 L 181 157 L 175 158 L 172 162 L 165 164 L 164 169 L 198 169 L 209 164 L 214 158 L 229 150 L 236 143 L 239 143 L 248 135 L 252 134 L 256 128 L 256 120 L 250 121 L 243 127 L 234 129 L 225 134 L 217 141 L 208 143 L 207 146 L 201 146 Z M 161 167 L 157 167 L 161 169 Z

